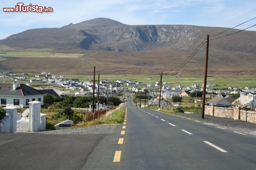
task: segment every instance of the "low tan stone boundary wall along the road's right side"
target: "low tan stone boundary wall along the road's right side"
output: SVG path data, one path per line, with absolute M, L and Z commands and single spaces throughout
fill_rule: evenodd
M 248 121 L 256 124 L 256 112 L 242 110 L 241 107 L 225 108 L 217 106 L 205 106 L 204 114 L 209 114 L 215 117 L 230 118 L 235 120 Z

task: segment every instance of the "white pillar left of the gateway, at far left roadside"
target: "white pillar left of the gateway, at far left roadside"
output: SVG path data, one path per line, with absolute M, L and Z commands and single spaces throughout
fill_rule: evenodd
M 10 132 L 10 133 L 14 133 L 17 130 L 17 107 L 14 106 L 7 106 L 4 107 L 5 111 L 6 111 L 6 115 L 9 117 L 9 123 L 10 125 L 8 126 L 8 128 L 6 129 L 5 132 Z

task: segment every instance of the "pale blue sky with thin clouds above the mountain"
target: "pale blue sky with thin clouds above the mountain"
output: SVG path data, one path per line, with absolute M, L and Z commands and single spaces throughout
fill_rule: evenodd
M 50 7 L 53 12 L 4 12 L 3 8 L 14 8 L 19 2 L 24 6 L 32 4 L 31 9 Z M 110 18 L 129 25 L 232 28 L 256 17 L 255 0 L 0 0 L 0 7 L 0 39 L 28 29 L 59 28 L 94 18 Z M 255 24 L 256 18 L 236 28 Z M 256 31 L 256 26 L 247 30 Z

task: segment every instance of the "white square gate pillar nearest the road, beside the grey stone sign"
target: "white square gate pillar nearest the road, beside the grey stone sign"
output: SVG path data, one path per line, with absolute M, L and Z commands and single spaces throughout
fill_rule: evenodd
M 41 102 L 33 101 L 28 102 L 29 104 L 29 124 L 28 124 L 28 131 L 39 131 L 40 130 L 40 112 L 41 112 Z

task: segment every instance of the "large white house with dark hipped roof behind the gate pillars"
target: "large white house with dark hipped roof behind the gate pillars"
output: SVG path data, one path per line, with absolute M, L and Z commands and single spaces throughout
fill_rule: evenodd
M 30 84 L 1 83 L 0 106 L 28 107 L 28 102 L 39 101 L 43 105 L 42 91 L 30 87 Z

